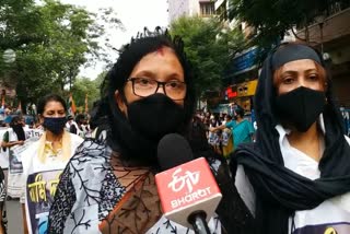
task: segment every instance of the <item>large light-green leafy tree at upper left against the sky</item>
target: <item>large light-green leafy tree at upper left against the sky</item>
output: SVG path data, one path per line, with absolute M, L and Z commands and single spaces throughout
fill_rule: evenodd
M 56 0 L 1 0 L 0 55 L 11 48 L 16 60 L 7 65 L 0 58 L 0 80 L 16 89 L 23 106 L 48 93 L 66 96 L 81 66 L 108 60 L 98 40 L 105 24 L 121 24 L 113 11 L 102 12 L 101 20 Z

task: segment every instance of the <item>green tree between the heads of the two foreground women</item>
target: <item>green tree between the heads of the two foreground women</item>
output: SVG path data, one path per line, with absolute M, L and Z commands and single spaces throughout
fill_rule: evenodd
M 224 70 L 243 45 L 243 35 L 230 30 L 215 17 L 183 16 L 171 24 L 172 35 L 178 35 L 185 44 L 185 52 L 191 61 L 198 96 L 222 86 Z

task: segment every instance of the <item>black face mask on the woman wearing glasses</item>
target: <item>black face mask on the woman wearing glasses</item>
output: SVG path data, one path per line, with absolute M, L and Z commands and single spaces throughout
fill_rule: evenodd
M 128 104 L 131 128 L 152 140 L 176 132 L 184 118 L 184 108 L 164 94 L 156 93 Z

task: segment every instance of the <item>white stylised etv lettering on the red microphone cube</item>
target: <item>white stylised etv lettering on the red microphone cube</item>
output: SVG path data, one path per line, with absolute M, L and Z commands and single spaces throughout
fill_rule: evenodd
M 182 173 L 182 167 L 177 168 L 173 173 L 173 180 L 167 185 L 168 188 L 172 188 L 173 191 L 180 191 L 185 185 L 187 186 L 187 189 L 189 192 L 194 190 L 194 185 L 197 185 L 199 182 L 199 172 L 189 172 L 186 171 L 185 173 Z

